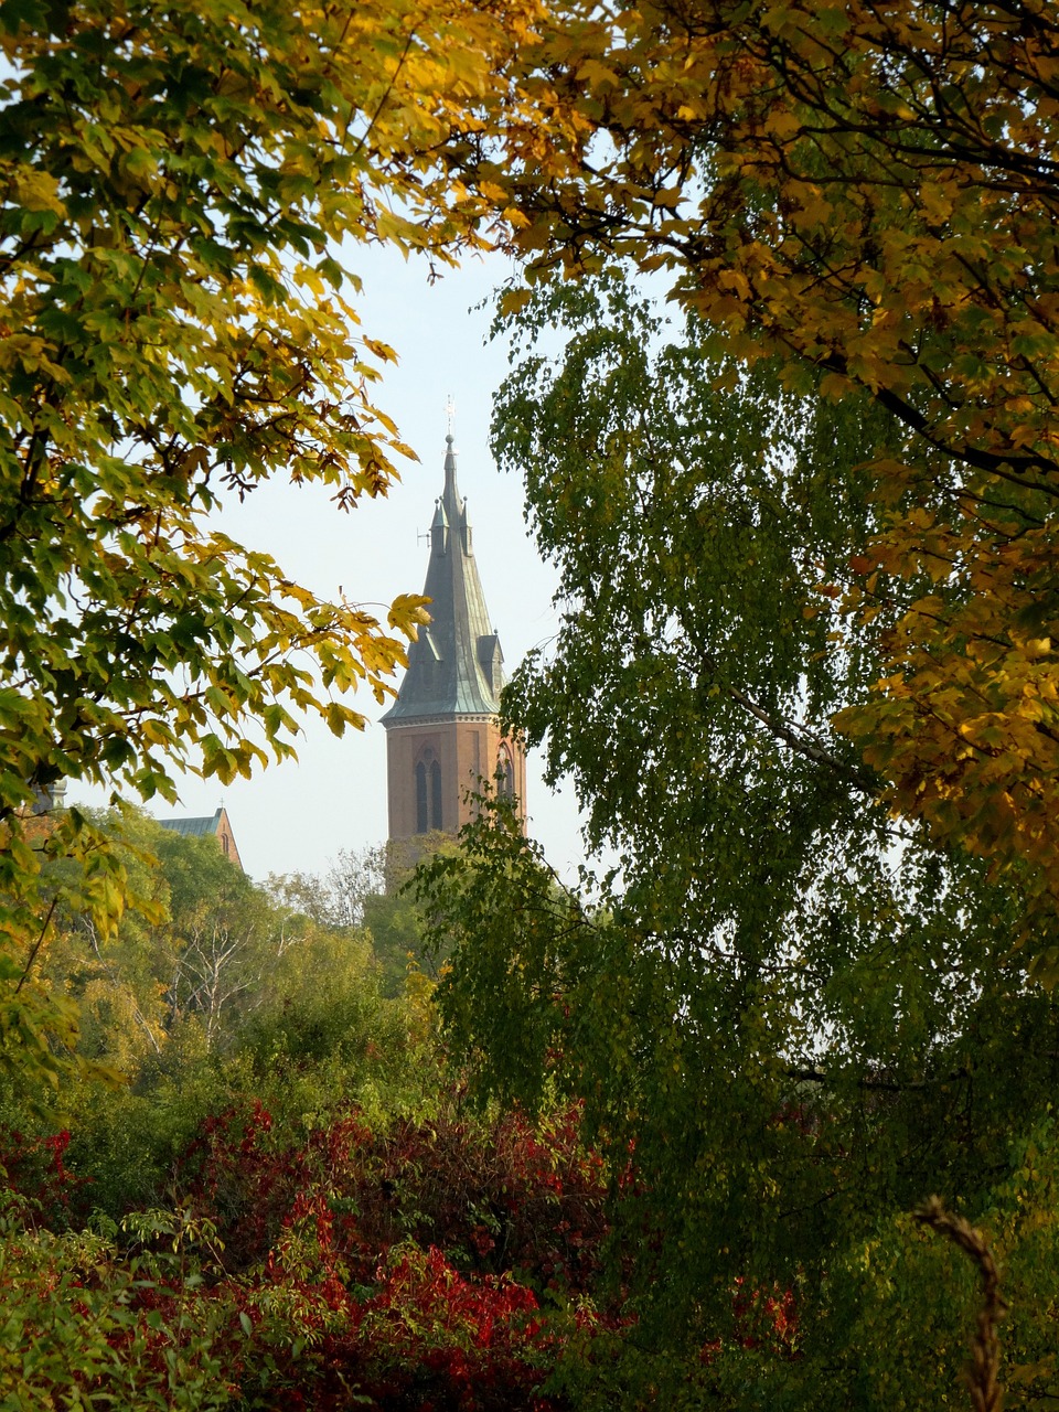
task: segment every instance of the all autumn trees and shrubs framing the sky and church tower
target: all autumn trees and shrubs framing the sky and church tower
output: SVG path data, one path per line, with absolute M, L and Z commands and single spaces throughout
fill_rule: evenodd
M 0 25 L 7 1405 L 1055 1401 L 1053 7 Z M 503 809 L 342 914 L 28 812 L 385 695 L 422 600 L 209 520 L 394 476 L 343 240 L 522 260 L 576 888 Z

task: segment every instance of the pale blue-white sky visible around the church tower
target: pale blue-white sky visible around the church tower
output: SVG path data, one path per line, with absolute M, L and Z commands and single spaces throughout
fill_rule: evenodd
M 339 587 L 347 602 L 384 617 L 398 593 L 419 593 L 426 573 L 426 531 L 443 483 L 445 404 L 456 405 L 459 486 L 474 530 L 474 554 L 486 603 L 500 633 L 508 672 L 555 633 L 551 597 L 555 570 L 544 565 L 522 518 L 522 489 L 501 477 L 489 449 L 490 402 L 507 370 L 505 350 L 487 345 L 491 292 L 508 273 L 494 257 L 466 263 L 431 285 L 425 261 L 404 263 L 391 251 L 354 251 L 349 267 L 364 280 L 353 299 L 361 329 L 390 343 L 400 364 L 376 385 L 374 398 L 419 456 L 387 500 L 361 501 L 343 514 L 322 486 L 274 480 L 244 504 L 226 507 L 222 524 L 249 548 L 271 554 L 295 582 L 323 597 Z M 489 308 L 473 308 L 483 301 Z M 325 870 L 340 849 L 381 843 L 387 833 L 385 707 L 370 693 L 346 700 L 370 716 L 361 733 L 335 740 L 306 722 L 298 762 L 271 765 L 250 781 L 222 786 L 192 775 L 181 785 L 181 808 L 154 801 L 157 818 L 213 813 L 223 802 L 251 877 Z M 552 795 L 528 761 L 530 832 L 549 861 L 569 874 L 582 858 L 570 791 Z M 104 802 L 100 791 L 72 785 L 69 801 Z

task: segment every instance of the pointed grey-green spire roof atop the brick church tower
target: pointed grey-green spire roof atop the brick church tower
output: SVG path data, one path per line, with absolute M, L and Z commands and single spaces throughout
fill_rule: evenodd
M 504 682 L 500 638 L 481 592 L 467 505 L 456 486 L 453 438 L 445 438 L 445 490 L 431 525 L 424 594 L 429 626 L 408 650 L 408 671 L 384 726 L 431 716 L 496 716 Z

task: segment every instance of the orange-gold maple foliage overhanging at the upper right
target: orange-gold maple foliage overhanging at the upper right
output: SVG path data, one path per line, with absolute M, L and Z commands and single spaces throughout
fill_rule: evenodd
M 826 586 L 878 652 L 837 722 L 888 805 L 1019 873 L 1049 984 L 1058 45 L 1039 0 L 575 0 L 521 58 L 578 140 L 476 168 L 531 273 L 665 271 L 714 347 L 904 429 Z

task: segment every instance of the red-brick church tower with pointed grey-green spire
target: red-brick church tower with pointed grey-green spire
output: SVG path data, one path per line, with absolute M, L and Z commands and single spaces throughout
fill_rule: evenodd
M 483 779 L 518 799 L 520 816 L 525 799 L 525 754 L 497 720 L 504 654 L 456 487 L 452 433 L 445 441 L 445 490 L 433 513 L 424 585 L 431 623 L 411 644 L 397 702 L 383 716 L 391 842 L 435 829 L 457 833 L 473 815 L 467 792 L 477 792 Z

